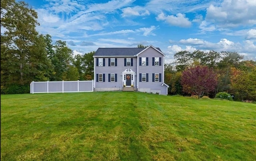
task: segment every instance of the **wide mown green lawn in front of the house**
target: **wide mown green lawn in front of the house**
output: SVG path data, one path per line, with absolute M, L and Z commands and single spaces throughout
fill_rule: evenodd
M 256 104 L 140 92 L 1 95 L 1 160 L 256 159 Z

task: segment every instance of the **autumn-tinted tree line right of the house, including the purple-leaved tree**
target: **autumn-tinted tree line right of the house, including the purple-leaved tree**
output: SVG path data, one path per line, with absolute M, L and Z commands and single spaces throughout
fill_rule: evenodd
M 237 52 L 181 51 L 165 64 L 164 81 L 171 95 L 214 97 L 230 93 L 235 100 L 256 100 L 256 62 Z

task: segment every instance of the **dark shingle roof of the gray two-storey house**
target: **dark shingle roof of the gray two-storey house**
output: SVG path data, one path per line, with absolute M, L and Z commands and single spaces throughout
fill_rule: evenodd
M 135 56 L 145 48 L 98 48 L 94 56 Z M 161 51 L 159 48 L 157 50 Z

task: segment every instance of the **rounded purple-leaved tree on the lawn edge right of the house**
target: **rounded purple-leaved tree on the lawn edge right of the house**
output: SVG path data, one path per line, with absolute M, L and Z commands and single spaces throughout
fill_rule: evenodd
M 197 66 L 184 70 L 181 84 L 184 92 L 197 95 L 199 99 L 204 93 L 214 91 L 217 76 L 207 66 Z

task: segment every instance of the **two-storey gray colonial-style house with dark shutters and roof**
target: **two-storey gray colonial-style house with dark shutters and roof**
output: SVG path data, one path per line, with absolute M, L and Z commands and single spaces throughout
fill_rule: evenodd
M 98 48 L 94 54 L 94 91 L 141 91 L 167 95 L 165 54 L 147 48 Z

